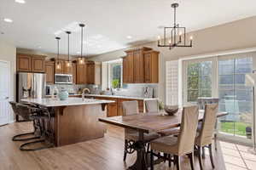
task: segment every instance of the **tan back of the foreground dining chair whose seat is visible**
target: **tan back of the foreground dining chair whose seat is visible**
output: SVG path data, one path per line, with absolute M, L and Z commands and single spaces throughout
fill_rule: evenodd
M 190 153 L 194 150 L 196 128 L 198 124 L 198 106 L 183 108 L 180 134 L 178 135 L 178 155 Z

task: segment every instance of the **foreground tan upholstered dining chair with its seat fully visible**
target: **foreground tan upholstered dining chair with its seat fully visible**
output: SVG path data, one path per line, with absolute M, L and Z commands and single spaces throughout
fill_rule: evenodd
M 177 137 L 166 136 L 154 139 L 150 142 L 151 169 L 154 169 L 154 151 L 164 152 L 174 156 L 174 164 L 180 170 L 180 157 L 189 156 L 191 169 L 194 170 L 194 144 L 196 128 L 198 124 L 198 106 L 188 106 L 183 108 L 180 133 Z M 170 161 L 170 160 L 169 160 Z

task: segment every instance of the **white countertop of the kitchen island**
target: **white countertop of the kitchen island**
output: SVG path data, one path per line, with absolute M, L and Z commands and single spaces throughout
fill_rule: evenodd
M 97 105 L 97 104 L 108 104 L 114 103 L 112 100 L 102 100 L 102 99 L 81 99 L 81 98 L 68 98 L 67 100 L 60 99 L 21 99 L 21 101 L 36 104 L 44 105 L 46 107 L 56 107 L 56 106 L 65 106 L 65 105 Z

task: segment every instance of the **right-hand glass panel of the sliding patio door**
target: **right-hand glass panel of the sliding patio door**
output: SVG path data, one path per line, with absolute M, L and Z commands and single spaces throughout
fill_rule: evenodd
M 253 57 L 218 59 L 219 111 L 229 116 L 220 121 L 220 133 L 252 138 L 253 93 L 245 75 L 253 71 Z

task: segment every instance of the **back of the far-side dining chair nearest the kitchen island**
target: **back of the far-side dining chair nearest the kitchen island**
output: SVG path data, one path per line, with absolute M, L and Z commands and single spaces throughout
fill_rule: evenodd
M 139 113 L 137 100 L 123 101 L 123 115 L 136 115 Z

